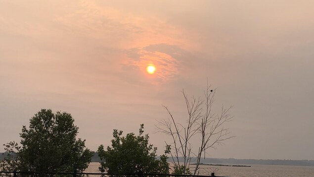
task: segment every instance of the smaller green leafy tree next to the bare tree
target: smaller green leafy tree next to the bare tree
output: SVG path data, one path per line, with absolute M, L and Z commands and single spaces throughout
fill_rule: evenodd
M 111 147 L 104 150 L 104 146 L 98 147 L 98 155 L 102 162 L 99 170 L 102 173 L 112 175 L 121 174 L 168 174 L 169 164 L 167 154 L 170 146 L 166 146 L 165 154 L 157 159 L 157 148 L 148 143 L 148 134 L 143 135 L 144 124 L 140 125 L 139 135 L 128 133 L 122 136 L 123 131 L 114 130 Z

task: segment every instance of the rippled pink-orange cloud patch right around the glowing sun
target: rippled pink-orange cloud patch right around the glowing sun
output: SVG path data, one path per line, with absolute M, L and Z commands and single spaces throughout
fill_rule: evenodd
M 134 68 L 146 74 L 146 67 L 153 64 L 156 67 L 154 81 L 164 83 L 175 79 L 180 69 L 183 69 L 184 60 L 188 52 L 178 45 L 152 44 L 143 48 L 132 48 L 125 51 L 127 58 L 123 65 Z

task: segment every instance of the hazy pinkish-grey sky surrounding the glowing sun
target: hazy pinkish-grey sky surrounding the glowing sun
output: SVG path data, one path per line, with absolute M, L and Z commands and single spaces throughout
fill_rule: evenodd
M 1 0 L 0 144 L 41 109 L 70 113 L 93 151 L 113 129 L 187 118 L 216 89 L 235 136 L 207 157 L 314 160 L 313 0 Z M 146 72 L 153 64 L 154 74 Z M 192 147 L 197 149 L 197 141 Z M 0 152 L 4 151 L 3 146 Z

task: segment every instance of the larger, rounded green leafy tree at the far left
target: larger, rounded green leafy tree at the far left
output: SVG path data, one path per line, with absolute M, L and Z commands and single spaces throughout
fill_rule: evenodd
M 85 140 L 76 139 L 78 129 L 70 114 L 42 109 L 30 119 L 29 128 L 23 126 L 20 147 L 15 142 L 5 144 L 8 156 L 1 169 L 83 172 L 90 164 L 92 152 L 85 147 Z

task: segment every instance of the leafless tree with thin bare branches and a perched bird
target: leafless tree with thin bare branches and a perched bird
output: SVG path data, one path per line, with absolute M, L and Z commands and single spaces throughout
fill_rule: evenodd
M 206 150 L 216 149 L 216 145 L 233 137 L 230 136 L 229 129 L 224 127 L 225 122 L 232 119 L 229 115 L 231 106 L 228 108 L 223 106 L 219 114 L 212 113 L 215 93 L 216 89 L 212 90 L 208 84 L 204 91 L 204 99 L 192 97 L 189 100 L 184 90 L 182 91 L 188 115 L 185 124 L 177 122 L 168 107 L 163 106 L 170 118 L 158 120 L 156 129 L 157 132 L 165 133 L 172 138 L 169 145 L 172 148 L 171 156 L 175 174 L 192 174 L 189 170 L 192 158 L 196 158 L 193 174 L 198 174 L 200 160 L 203 156 L 205 159 Z M 193 138 L 201 141 L 196 153 L 192 151 Z M 167 142 L 166 144 L 168 145 Z

